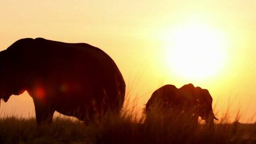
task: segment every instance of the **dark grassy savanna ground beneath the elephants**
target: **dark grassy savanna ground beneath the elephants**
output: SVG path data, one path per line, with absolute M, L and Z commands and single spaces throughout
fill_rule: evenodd
M 145 120 L 124 110 L 88 125 L 60 116 L 40 128 L 34 117 L 5 116 L 0 118 L 0 144 L 256 144 L 256 124 L 227 123 L 228 115 L 213 127 L 195 127 L 189 119 L 163 120 L 158 114 Z

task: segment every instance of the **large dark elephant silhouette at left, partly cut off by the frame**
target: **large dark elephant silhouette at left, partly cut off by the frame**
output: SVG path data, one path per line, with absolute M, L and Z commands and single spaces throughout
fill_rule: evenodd
M 0 98 L 27 91 L 36 123 L 51 123 L 55 111 L 88 122 L 120 112 L 125 82 L 115 62 L 89 44 L 43 38 L 17 40 L 0 52 Z

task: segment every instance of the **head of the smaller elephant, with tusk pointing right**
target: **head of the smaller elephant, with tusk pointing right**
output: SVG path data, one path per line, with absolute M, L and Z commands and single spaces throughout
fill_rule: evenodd
M 213 120 L 218 120 L 212 110 L 212 96 L 207 89 L 194 87 L 193 84 L 186 84 L 180 88 L 181 90 L 189 93 L 196 106 L 197 114 L 206 121 L 206 124 L 213 124 Z

